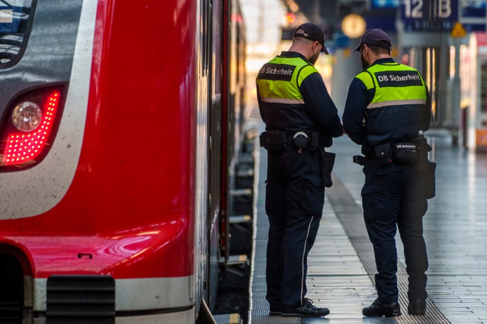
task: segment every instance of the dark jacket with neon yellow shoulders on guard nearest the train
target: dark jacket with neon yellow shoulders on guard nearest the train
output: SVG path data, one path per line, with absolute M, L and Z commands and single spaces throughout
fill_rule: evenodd
M 282 52 L 264 64 L 256 82 L 266 130 L 318 131 L 325 147 L 342 134 L 340 116 L 323 78 L 303 55 Z

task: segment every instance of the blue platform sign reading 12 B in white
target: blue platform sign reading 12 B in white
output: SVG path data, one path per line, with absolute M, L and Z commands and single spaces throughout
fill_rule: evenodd
M 405 31 L 448 31 L 458 21 L 458 0 L 402 0 Z

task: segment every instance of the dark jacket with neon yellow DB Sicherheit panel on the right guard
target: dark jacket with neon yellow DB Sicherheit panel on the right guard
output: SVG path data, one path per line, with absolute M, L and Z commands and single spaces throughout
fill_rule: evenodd
M 428 130 L 431 100 L 417 70 L 376 60 L 350 84 L 343 114 L 348 136 L 359 145 L 412 142 L 419 130 Z

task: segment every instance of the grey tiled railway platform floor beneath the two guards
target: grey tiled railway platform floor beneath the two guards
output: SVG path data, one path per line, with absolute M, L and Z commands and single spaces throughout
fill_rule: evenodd
M 257 128 L 262 128 L 256 123 Z M 452 145 L 447 131 L 426 132 L 437 164 L 436 196 L 428 200 L 424 236 L 428 249 L 428 310 L 407 314 L 407 274 L 403 247 L 396 235 L 398 286 L 403 315 L 363 317 L 376 298 L 375 262 L 362 216 L 362 167 L 352 163 L 360 148 L 344 135 L 334 139 L 333 186 L 316 243 L 309 255 L 308 298 L 327 307 L 323 318 L 268 316 L 265 299 L 265 250 L 268 221 L 264 209 L 266 151 L 255 146 L 253 253 L 248 323 L 487 323 L 487 154 Z

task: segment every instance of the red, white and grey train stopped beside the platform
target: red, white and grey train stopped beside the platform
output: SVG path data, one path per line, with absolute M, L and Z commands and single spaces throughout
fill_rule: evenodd
M 0 322 L 211 311 L 244 86 L 237 0 L 1 0 Z

